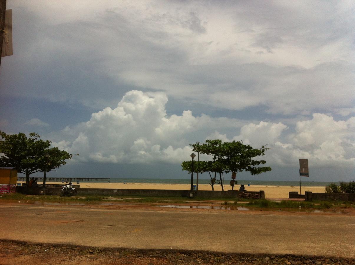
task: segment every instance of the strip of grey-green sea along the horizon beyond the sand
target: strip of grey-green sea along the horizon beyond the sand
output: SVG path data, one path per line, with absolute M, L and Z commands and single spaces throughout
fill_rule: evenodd
M 101 181 L 97 181 L 101 182 Z M 160 183 L 160 184 L 190 184 L 191 178 L 110 178 L 110 182 L 120 183 Z M 200 179 L 198 184 L 209 184 L 211 180 Z M 225 179 L 224 184 L 229 186 L 230 179 Z M 193 181 L 196 184 L 196 178 Z M 340 182 L 326 182 L 326 181 L 302 181 L 301 186 L 320 186 L 325 187 L 330 183 L 340 185 Z M 244 184 L 245 186 L 263 185 L 263 186 L 300 186 L 299 181 L 267 181 L 267 180 L 238 180 L 238 185 Z M 249 185 L 248 185 L 249 184 Z M 218 184 L 215 184 L 218 185 Z

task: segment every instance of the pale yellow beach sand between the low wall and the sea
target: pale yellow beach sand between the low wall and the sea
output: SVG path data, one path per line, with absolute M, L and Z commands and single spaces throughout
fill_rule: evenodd
M 48 184 L 62 184 L 61 182 L 47 182 Z M 73 183 L 76 185 L 76 183 Z M 108 183 L 108 182 L 81 182 L 80 188 L 99 188 L 99 189 L 179 189 L 179 190 L 190 190 L 190 184 L 162 184 L 162 183 Z M 194 184 L 195 185 L 195 184 Z M 239 189 L 239 185 L 234 187 L 236 190 Z M 209 184 L 199 184 L 198 189 L 201 191 L 212 191 Z M 228 185 L 225 185 L 224 190 L 231 189 Z M 290 191 L 300 192 L 300 186 L 266 186 L 266 185 L 251 185 L 250 187 L 245 186 L 247 191 L 264 191 L 265 198 L 288 198 L 288 193 Z M 305 191 L 311 191 L 313 193 L 323 193 L 325 187 L 312 187 L 312 186 L 301 186 L 302 194 Z M 215 191 L 222 191 L 220 185 L 214 185 Z

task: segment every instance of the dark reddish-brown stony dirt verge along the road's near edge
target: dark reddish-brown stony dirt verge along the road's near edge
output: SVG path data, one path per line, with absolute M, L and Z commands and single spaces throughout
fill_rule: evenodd
M 87 248 L 5 240 L 0 241 L 0 253 L 0 264 L 355 264 L 354 259 L 335 257 Z

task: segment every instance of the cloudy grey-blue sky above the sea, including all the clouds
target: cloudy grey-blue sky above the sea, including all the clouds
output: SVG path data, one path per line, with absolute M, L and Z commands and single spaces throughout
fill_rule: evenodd
M 308 159 L 302 181 L 355 180 L 354 1 L 6 8 L 0 130 L 80 154 L 49 177 L 190 178 L 190 144 L 222 139 L 270 148 L 271 172 L 237 179 L 297 181 Z

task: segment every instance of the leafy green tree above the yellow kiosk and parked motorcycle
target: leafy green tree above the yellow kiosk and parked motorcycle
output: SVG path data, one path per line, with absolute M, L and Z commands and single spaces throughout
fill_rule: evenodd
M 49 172 L 65 165 L 72 154 L 61 151 L 57 147 L 50 148 L 50 140 L 41 140 L 37 133 L 6 134 L 0 131 L 0 165 L 15 167 L 17 172 L 29 175 L 36 172 Z M 48 154 L 46 158 L 44 155 Z

